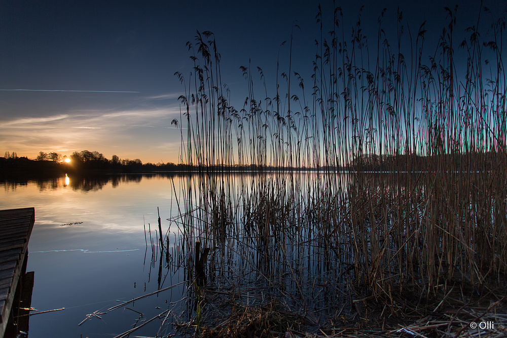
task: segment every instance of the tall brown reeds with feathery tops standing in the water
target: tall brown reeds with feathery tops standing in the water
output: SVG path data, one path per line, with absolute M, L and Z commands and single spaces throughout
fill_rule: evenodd
M 449 309 L 468 306 L 456 323 L 484 295 L 505 306 L 505 13 L 458 45 L 456 10 L 447 12 L 431 50 L 424 23 L 414 36 L 400 12 L 394 45 L 384 13 L 369 45 L 360 13 L 350 35 L 337 8 L 326 34 L 319 8 L 310 92 L 291 58 L 277 64 L 272 92 L 262 69 L 244 66 L 239 110 L 214 35 L 187 44 L 194 68 L 176 73 L 185 95 L 173 124 L 189 170 L 170 219 L 192 299 L 187 327 L 445 335 Z M 205 286 L 195 282 L 196 241 L 209 249 Z

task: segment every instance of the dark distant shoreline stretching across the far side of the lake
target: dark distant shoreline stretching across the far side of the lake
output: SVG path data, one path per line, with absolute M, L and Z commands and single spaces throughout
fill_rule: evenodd
M 104 174 L 152 174 L 152 173 L 276 173 L 276 172 L 322 172 L 322 173 L 362 173 L 362 174 L 423 174 L 423 173 L 481 173 L 489 172 L 496 167 L 498 160 L 491 155 L 468 156 L 455 154 L 454 161 L 450 166 L 436 170 L 431 166 L 431 157 L 402 156 L 400 159 L 386 157 L 382 162 L 378 159 L 368 157 L 358 158 L 346 167 L 323 166 L 318 168 L 307 167 L 274 167 L 257 165 L 214 165 L 214 166 L 193 166 L 187 164 L 142 164 L 140 161 L 127 161 L 126 163 L 112 162 L 107 159 L 102 161 L 88 161 L 60 163 L 46 160 L 30 160 L 26 157 L 0 158 L 0 180 L 17 179 L 23 177 L 57 177 L 69 175 L 104 175 Z M 482 163 L 482 165 L 479 165 Z M 484 166 L 484 164 L 487 164 Z M 425 170 L 428 168 L 427 170 Z M 388 170 L 384 170 L 388 169 Z M 393 170 L 396 169 L 396 170 Z M 454 169 L 454 170 L 453 170 Z M 463 170 L 465 169 L 465 170 Z M 482 169 L 482 170 L 478 170 Z

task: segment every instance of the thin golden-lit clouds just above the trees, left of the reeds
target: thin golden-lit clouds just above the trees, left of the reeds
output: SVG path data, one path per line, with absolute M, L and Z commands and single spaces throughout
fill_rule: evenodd
M 176 107 L 74 109 L 41 117 L 0 122 L 0 151 L 35 158 L 41 151 L 69 155 L 72 151 L 98 151 L 106 157 L 140 158 L 143 162 L 164 158 L 179 148 L 178 133 L 168 132 L 179 116 Z M 167 142 L 167 143 L 166 143 Z M 158 146 L 166 143 L 165 146 Z M 164 149 L 166 152 L 164 152 Z M 156 153 L 154 153 L 156 152 Z M 169 153 L 168 153 L 169 152 Z

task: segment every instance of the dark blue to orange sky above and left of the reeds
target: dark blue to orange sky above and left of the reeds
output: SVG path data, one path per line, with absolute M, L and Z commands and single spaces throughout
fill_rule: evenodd
M 310 81 L 318 1 L 24 1 L 0 4 L 0 154 L 30 159 L 39 152 L 71 155 L 98 151 L 106 158 L 143 163 L 179 162 L 178 97 L 193 63 L 186 47 L 196 31 L 214 33 L 222 56 L 222 80 L 231 103 L 241 106 L 247 83 L 241 65 L 260 66 L 274 88 L 280 47 L 293 33 L 292 69 Z M 320 1 L 323 22 L 333 2 Z M 446 22 L 444 7 L 458 5 L 457 31 L 477 22 L 480 2 L 336 1 L 351 32 L 360 7 L 361 26 L 375 40 L 383 8 L 384 29 L 395 39 L 396 11 L 416 32 L 427 20 L 429 45 Z M 491 19 L 507 8 L 484 0 Z M 486 15 L 486 14 L 485 14 Z M 300 29 L 293 30 L 296 22 Z M 286 64 L 286 62 L 285 62 Z

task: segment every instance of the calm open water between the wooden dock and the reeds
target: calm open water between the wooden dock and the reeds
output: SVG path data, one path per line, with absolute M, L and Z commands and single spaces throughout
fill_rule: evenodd
M 179 179 L 174 178 L 178 189 Z M 160 207 L 162 230 L 171 209 L 172 181 L 162 175 L 116 175 L 93 179 L 60 177 L 24 183 L 0 183 L 0 208 L 35 208 L 35 226 L 28 246 L 27 271 L 35 272 L 29 337 L 113 337 L 166 309 L 178 312 L 185 285 L 136 301 L 134 311 L 106 309 L 183 281 L 183 272 L 163 271 L 151 264 L 143 223 L 152 235 Z M 175 203 L 173 203 L 175 205 Z M 150 243 L 148 239 L 148 244 Z M 145 286 L 146 285 L 146 286 Z M 172 304 L 171 304 L 172 303 Z M 97 311 L 97 312 L 96 312 Z M 78 326 L 88 314 L 91 317 Z M 131 336 L 155 336 L 160 320 Z

